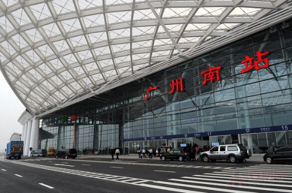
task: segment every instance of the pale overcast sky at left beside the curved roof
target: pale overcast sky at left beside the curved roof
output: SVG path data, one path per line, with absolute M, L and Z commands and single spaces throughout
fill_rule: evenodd
M 13 132 L 21 133 L 22 125 L 17 121 L 25 107 L 13 93 L 0 72 L 0 152 L 6 148 Z

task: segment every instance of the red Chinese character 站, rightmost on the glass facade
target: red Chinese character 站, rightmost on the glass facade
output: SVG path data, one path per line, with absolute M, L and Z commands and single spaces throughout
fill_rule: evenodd
M 263 52 L 261 53 L 260 51 L 257 51 L 257 57 L 258 60 L 254 62 L 253 64 L 253 60 L 254 57 L 249 57 L 246 56 L 245 60 L 241 61 L 241 64 L 245 65 L 245 69 L 243 69 L 242 71 L 240 71 L 241 73 L 246 73 L 250 70 L 252 70 L 253 68 L 255 68 L 256 70 L 262 69 L 262 68 L 268 68 L 269 67 L 269 59 L 268 58 L 262 58 L 263 56 L 269 54 L 270 52 Z M 259 66 L 259 63 L 264 62 L 264 65 Z

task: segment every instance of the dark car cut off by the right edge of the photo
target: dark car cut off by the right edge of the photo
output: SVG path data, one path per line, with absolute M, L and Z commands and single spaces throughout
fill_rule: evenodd
M 274 162 L 292 162 L 292 147 L 281 147 L 276 151 L 267 153 L 264 156 L 264 161 L 268 164 Z

